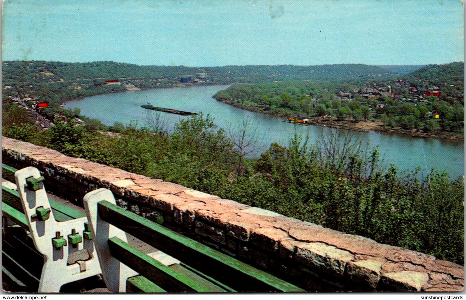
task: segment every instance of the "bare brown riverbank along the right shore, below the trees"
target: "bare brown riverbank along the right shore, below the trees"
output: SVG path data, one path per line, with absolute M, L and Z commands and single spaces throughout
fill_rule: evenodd
M 293 114 L 292 112 L 276 112 L 276 111 L 271 111 L 270 109 L 264 108 L 259 105 L 250 105 L 250 104 L 244 104 L 240 102 L 235 102 L 234 100 L 219 100 L 219 102 L 223 102 L 229 105 L 232 105 L 234 107 L 240 108 L 240 109 L 246 109 L 249 111 L 254 111 L 254 112 L 260 112 L 263 114 L 267 115 L 272 115 L 272 116 L 280 116 L 284 118 L 288 118 L 290 116 L 290 113 Z M 378 131 L 378 132 L 389 132 L 389 133 L 396 133 L 396 134 L 402 134 L 402 135 L 408 135 L 408 136 L 413 136 L 413 137 L 422 137 L 422 138 L 438 138 L 438 139 L 451 139 L 451 140 L 464 140 L 463 135 L 459 134 L 454 134 L 450 132 L 442 132 L 442 131 L 430 131 L 430 132 L 425 132 L 422 130 L 406 130 L 401 127 L 393 127 L 393 128 L 384 128 L 384 124 L 379 121 L 379 120 L 369 120 L 369 121 L 349 121 L 349 120 L 337 120 L 335 117 L 327 117 L 327 118 L 322 118 L 322 117 L 308 117 L 309 122 L 314 123 L 313 125 L 321 125 L 321 126 L 328 126 L 328 127 L 334 127 L 334 128 L 340 128 L 340 129 L 347 129 L 347 130 L 357 130 L 357 131 Z

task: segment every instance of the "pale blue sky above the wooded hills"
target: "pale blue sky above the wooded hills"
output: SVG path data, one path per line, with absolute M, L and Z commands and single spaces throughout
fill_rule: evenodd
M 5 0 L 3 60 L 222 66 L 464 60 L 460 0 Z

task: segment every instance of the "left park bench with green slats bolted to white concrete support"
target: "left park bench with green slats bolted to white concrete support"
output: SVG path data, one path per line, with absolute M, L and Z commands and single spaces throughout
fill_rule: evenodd
M 101 273 L 85 214 L 49 199 L 39 170 L 2 164 L 2 179 L 4 278 L 21 291 L 54 293 Z

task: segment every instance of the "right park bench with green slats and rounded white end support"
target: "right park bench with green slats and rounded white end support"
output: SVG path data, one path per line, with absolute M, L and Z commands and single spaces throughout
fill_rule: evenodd
M 301 288 L 116 205 L 110 190 L 84 197 L 103 279 L 111 292 L 304 292 Z M 128 244 L 126 233 L 179 263 Z

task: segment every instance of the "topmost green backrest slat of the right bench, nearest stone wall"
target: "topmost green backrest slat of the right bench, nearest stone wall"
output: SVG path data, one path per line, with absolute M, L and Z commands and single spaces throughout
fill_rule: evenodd
M 180 261 L 189 262 L 196 270 L 231 286 L 238 292 L 305 292 L 291 283 L 188 239 L 108 201 L 99 202 L 97 208 L 101 218 L 108 223 Z

